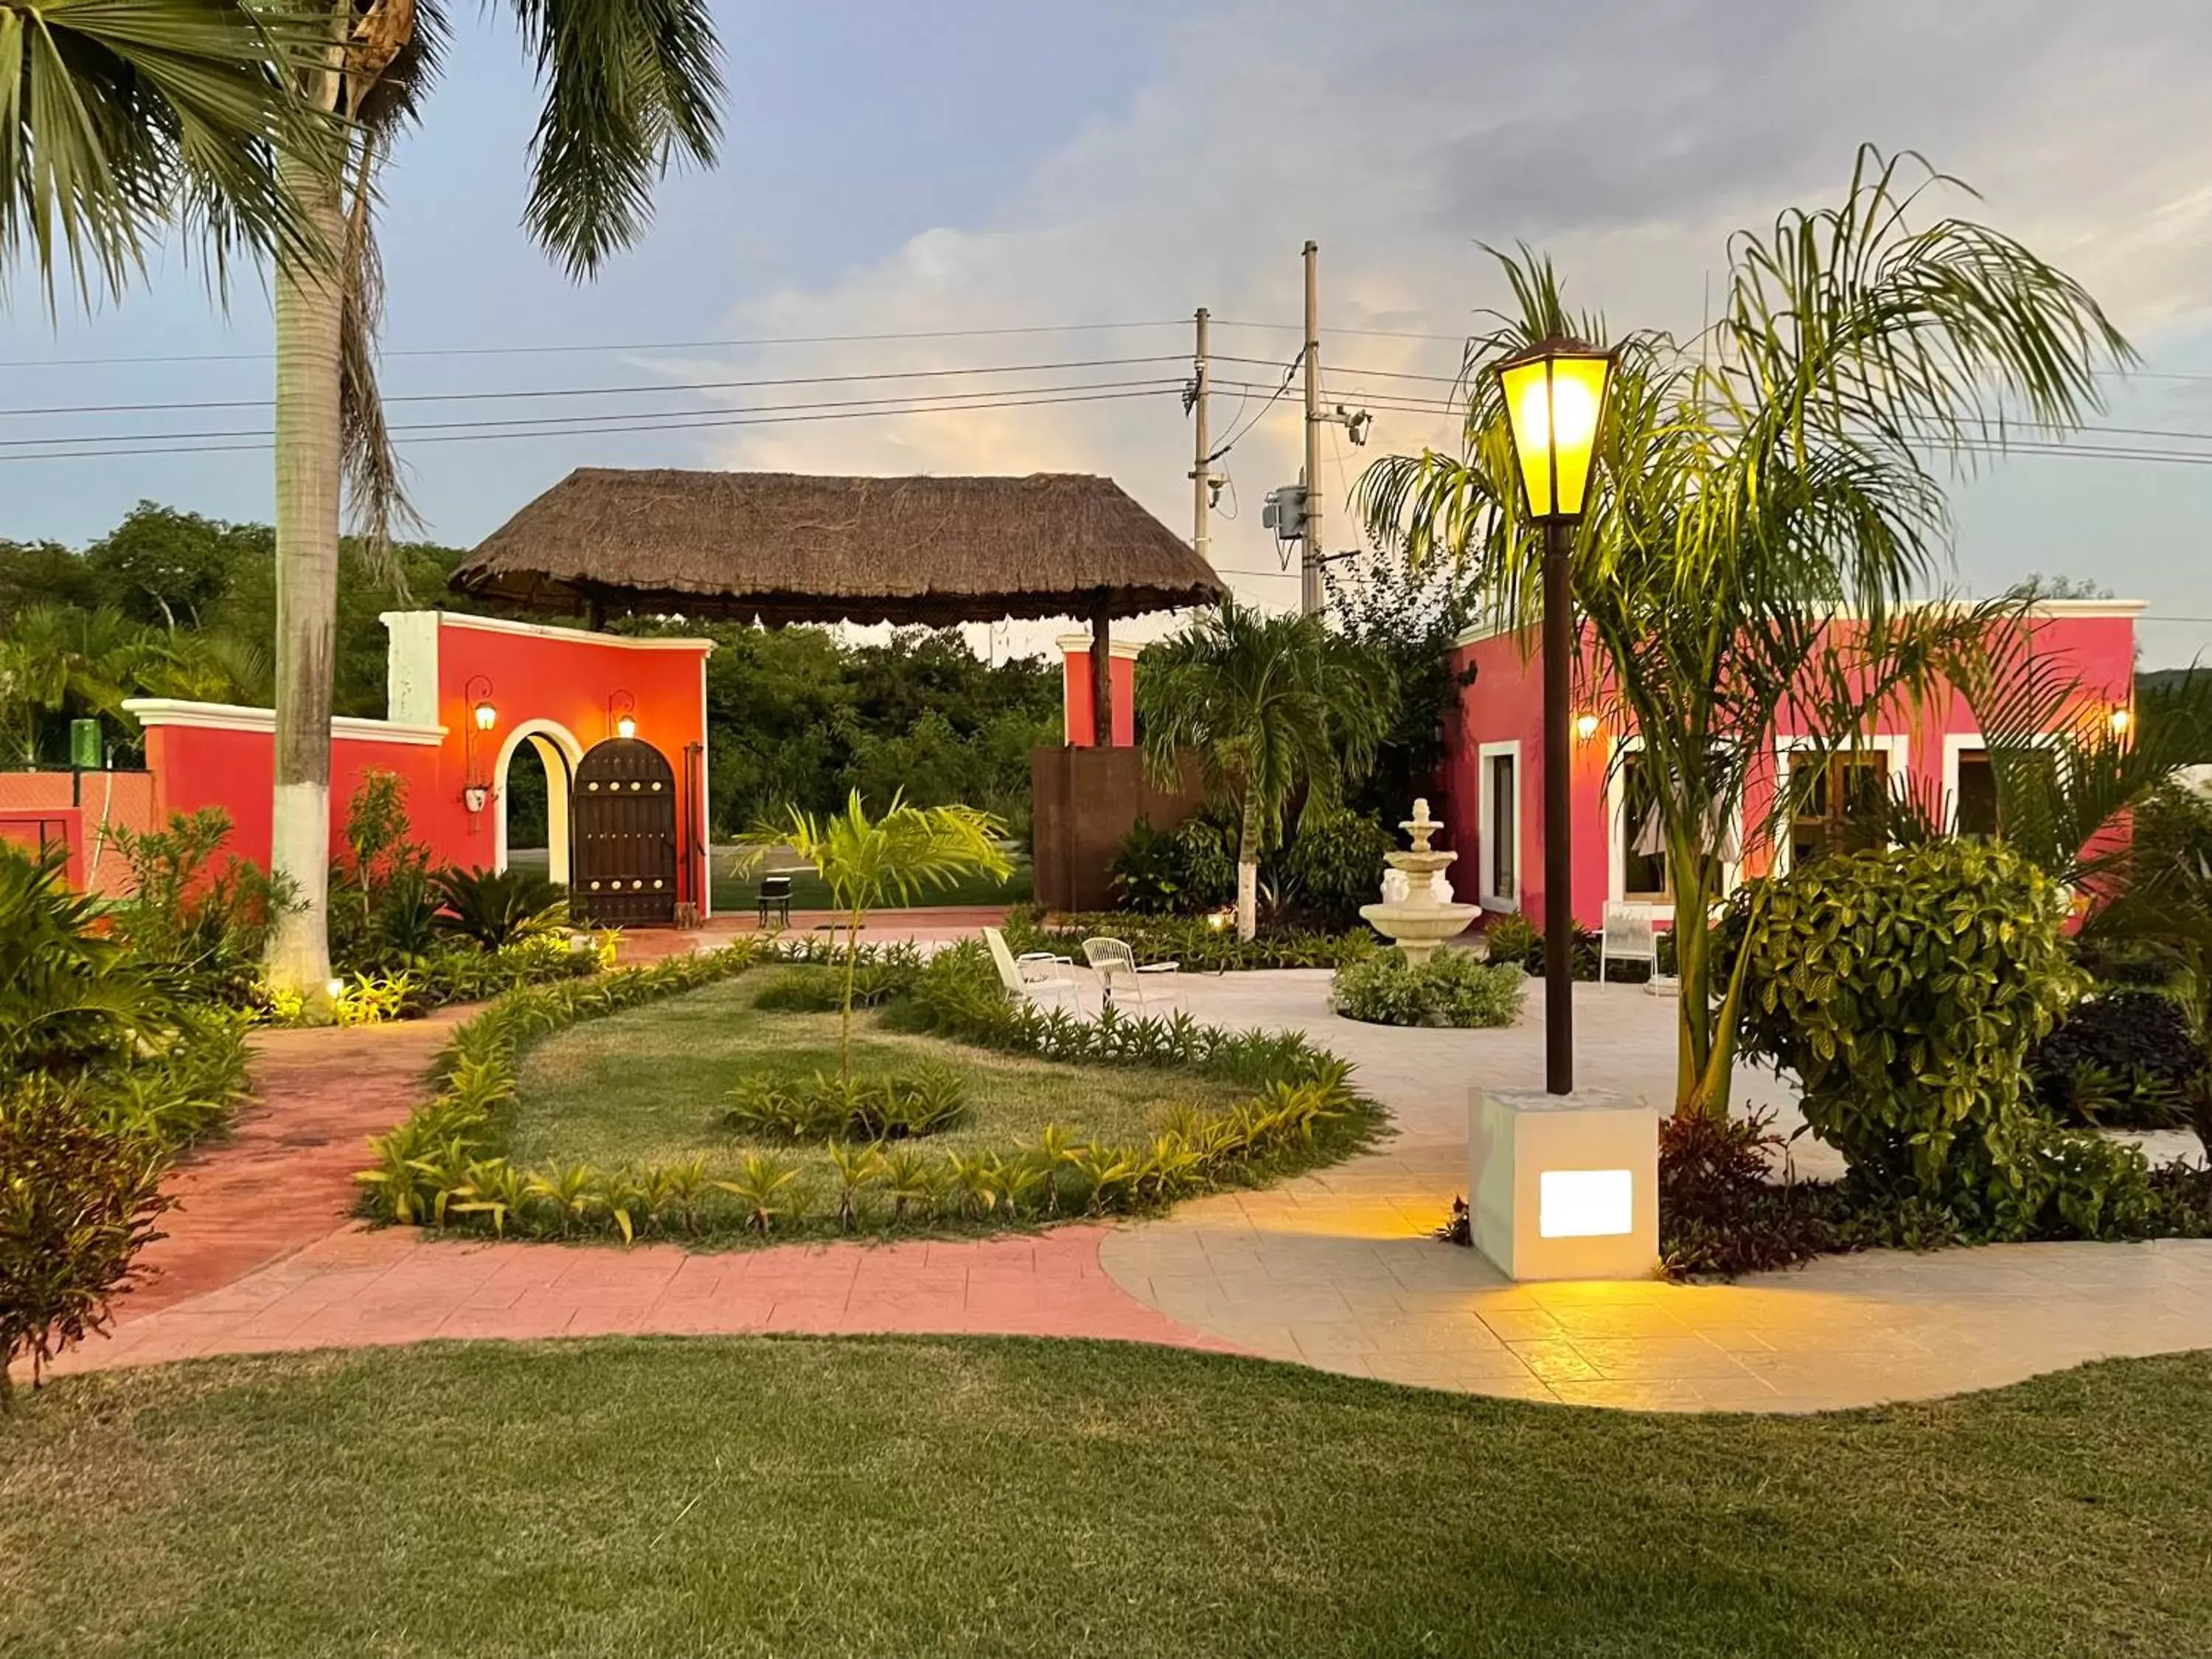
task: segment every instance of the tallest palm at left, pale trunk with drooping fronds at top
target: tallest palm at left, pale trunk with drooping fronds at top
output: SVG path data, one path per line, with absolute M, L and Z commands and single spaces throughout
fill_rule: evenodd
M 303 907 L 270 940 L 270 982 L 310 1002 L 330 980 L 330 701 L 341 480 L 372 553 L 411 518 L 376 396 L 383 281 L 374 206 L 394 137 L 436 86 L 436 0 L 314 0 L 316 58 L 296 77 L 343 122 L 338 168 L 285 164 L 283 186 L 336 263 L 276 270 L 276 796 L 270 860 Z M 637 241 L 672 157 L 712 161 L 719 49 L 706 0 L 513 0 L 544 108 L 524 221 L 573 276 Z

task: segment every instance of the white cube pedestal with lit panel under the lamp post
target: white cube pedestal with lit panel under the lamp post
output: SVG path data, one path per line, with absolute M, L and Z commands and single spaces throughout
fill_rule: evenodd
M 1579 1091 L 1475 1091 L 1467 1121 L 1475 1250 L 1509 1279 L 1650 1279 L 1659 1119 Z

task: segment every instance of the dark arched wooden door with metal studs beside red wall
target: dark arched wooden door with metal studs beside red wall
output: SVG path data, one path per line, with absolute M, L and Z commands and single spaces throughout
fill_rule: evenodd
M 595 927 L 675 927 L 677 776 L 637 737 L 584 752 L 575 768 L 568 898 Z

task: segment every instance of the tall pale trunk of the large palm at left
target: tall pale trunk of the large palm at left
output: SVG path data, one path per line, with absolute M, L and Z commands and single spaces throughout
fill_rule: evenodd
M 310 97 L 338 100 L 336 75 Z M 323 243 L 345 241 L 336 179 L 296 159 L 285 190 Z M 330 1002 L 330 675 L 338 622 L 338 330 L 336 265 L 276 268 L 276 794 L 270 867 L 296 907 L 270 933 L 268 978 L 310 1011 Z

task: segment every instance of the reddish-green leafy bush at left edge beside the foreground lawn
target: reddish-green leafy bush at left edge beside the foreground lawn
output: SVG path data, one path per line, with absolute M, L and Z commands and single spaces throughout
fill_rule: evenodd
M 55 1354 L 106 1329 L 166 1208 L 153 1137 L 51 1077 L 0 1091 L 0 1407 L 18 1358 L 38 1387 Z

